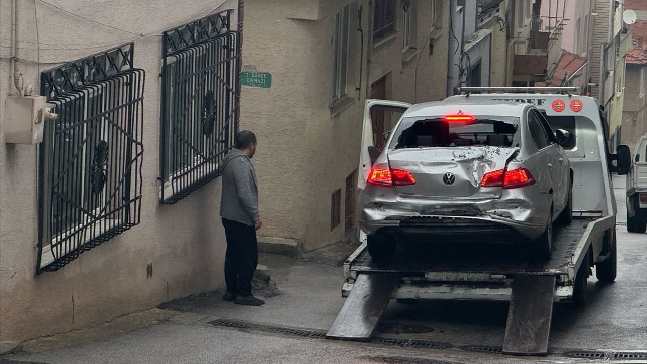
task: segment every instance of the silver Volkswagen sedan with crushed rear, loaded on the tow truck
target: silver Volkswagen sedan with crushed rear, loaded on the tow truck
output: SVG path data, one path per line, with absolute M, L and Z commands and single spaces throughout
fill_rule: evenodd
M 398 243 L 465 240 L 520 242 L 547 258 L 553 223 L 571 222 L 572 171 L 559 144 L 568 137 L 531 104 L 411 106 L 384 152 L 369 147 L 359 220 L 371 257 L 386 264 Z

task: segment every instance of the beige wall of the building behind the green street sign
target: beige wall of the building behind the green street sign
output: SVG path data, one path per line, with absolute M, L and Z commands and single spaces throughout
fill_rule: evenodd
M 346 4 L 352 7 L 348 97 L 331 108 L 334 14 Z M 398 32 L 373 43 L 367 0 L 320 1 L 316 16 L 308 19 L 285 17 L 289 5 L 282 0 L 245 1 L 243 63 L 273 75 L 272 89 L 243 89 L 242 95 L 241 127 L 259 139 L 254 163 L 263 216 L 260 240 L 286 238 L 310 251 L 345 238 L 345 178 L 359 166 L 364 100 L 373 82 L 386 76 L 387 97 L 395 100 L 446 96 L 446 30 L 432 40 L 430 55 L 431 2 L 418 0 L 413 6 L 419 53 L 406 61 L 410 54 L 402 53 L 399 2 Z M 356 30 L 360 9 L 363 58 L 362 34 Z M 445 8 L 444 19 L 446 13 Z M 331 194 L 338 189 L 342 222 L 331 231 Z

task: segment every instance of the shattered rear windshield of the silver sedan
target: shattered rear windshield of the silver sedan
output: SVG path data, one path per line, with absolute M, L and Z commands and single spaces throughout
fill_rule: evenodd
M 443 117 L 402 119 L 391 149 L 447 146 L 520 146 L 519 118 L 474 117 L 448 122 Z

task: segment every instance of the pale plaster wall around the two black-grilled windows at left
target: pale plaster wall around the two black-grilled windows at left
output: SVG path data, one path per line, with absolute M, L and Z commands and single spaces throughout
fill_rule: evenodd
M 6 144 L 5 98 L 16 95 L 10 72 L 12 1 L 0 2 L 0 339 L 21 340 L 100 323 L 167 299 L 223 286 L 225 242 L 218 218 L 221 184 L 213 181 L 176 205 L 160 205 L 158 171 L 162 30 L 213 12 L 219 2 L 19 1 L 19 67 L 39 90 L 39 71 L 135 41 L 135 65 L 146 71 L 141 222 L 53 273 L 36 276 L 37 146 Z M 219 8 L 236 8 L 235 0 Z M 142 17 L 142 14 L 146 16 Z M 234 24 L 236 23 L 234 14 Z M 132 34 L 134 33 L 134 34 Z M 147 34 L 138 36 L 137 34 Z M 36 48 L 40 42 L 40 54 Z M 38 58 L 40 62 L 38 62 Z M 152 277 L 147 278 L 147 266 Z

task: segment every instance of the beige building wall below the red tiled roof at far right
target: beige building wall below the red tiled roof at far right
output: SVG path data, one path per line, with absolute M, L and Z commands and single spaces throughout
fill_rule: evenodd
M 620 142 L 633 148 L 635 141 L 647 134 L 647 95 L 640 92 L 641 69 L 647 72 L 647 64 L 626 66 L 624 109 Z

